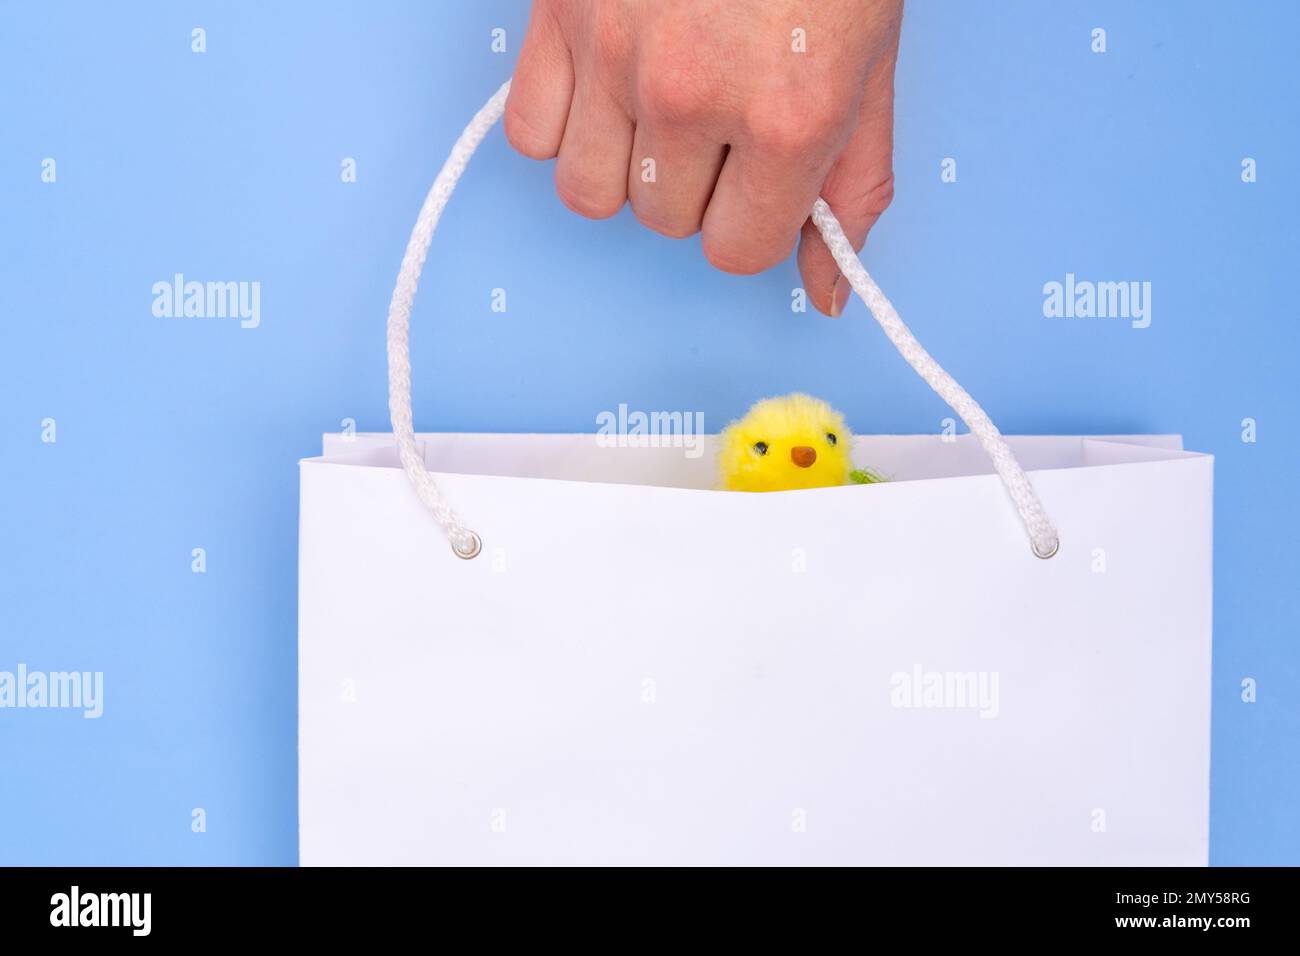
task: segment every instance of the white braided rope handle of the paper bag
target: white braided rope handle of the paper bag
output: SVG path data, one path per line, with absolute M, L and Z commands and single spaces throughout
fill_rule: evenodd
M 469 165 L 469 157 L 474 155 L 474 150 L 488 135 L 488 130 L 506 112 L 508 94 L 510 81 L 506 81 L 484 104 L 484 108 L 474 114 L 456 144 L 451 147 L 451 155 L 442 164 L 438 178 L 433 181 L 433 189 L 429 190 L 424 206 L 420 207 L 420 216 L 416 219 L 415 229 L 411 230 L 411 241 L 407 243 L 406 255 L 402 256 L 398 284 L 389 304 L 389 414 L 393 418 L 393 437 L 396 440 L 402 467 L 406 470 L 407 477 L 411 479 L 411 486 L 415 488 L 420 501 L 447 532 L 452 550 L 462 558 L 476 557 L 482 550 L 482 541 L 462 524 L 456 512 L 451 510 L 442 490 L 424 467 L 424 459 L 415 444 L 415 424 L 411 416 L 411 304 L 420 284 L 420 271 L 429 254 L 433 230 L 438 226 L 438 220 L 447 207 L 447 200 L 451 198 L 451 191 L 456 187 L 460 174 Z M 867 303 L 871 315 L 875 316 L 889 341 L 894 343 L 898 354 L 940 398 L 948 402 L 971 429 L 971 433 L 979 438 L 984 451 L 993 460 L 993 468 L 1011 496 L 1011 501 L 1015 502 L 1015 509 L 1030 535 L 1034 553 L 1040 558 L 1050 558 L 1060 548 L 1056 527 L 1043 510 L 1043 502 L 1039 501 L 1028 475 L 1015 460 L 1015 455 L 1011 454 L 1011 449 L 1008 447 L 997 427 L 966 389 L 958 385 L 931 358 L 930 352 L 922 349 L 916 337 L 904 325 L 898 312 L 880 291 L 880 286 L 867 274 L 862 260 L 853 251 L 853 246 L 826 200 L 818 199 L 812 204 L 812 221 L 831 248 L 835 261 L 840 265 L 840 272 Z

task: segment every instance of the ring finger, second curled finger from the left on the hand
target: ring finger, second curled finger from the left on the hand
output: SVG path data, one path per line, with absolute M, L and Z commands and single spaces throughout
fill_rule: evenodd
M 601 85 L 578 83 L 555 163 L 555 191 L 580 216 L 608 219 L 628 199 L 632 118 Z

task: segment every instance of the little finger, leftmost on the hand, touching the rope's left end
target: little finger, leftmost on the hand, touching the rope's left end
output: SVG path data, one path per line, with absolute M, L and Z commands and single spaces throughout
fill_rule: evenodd
M 542 4 L 533 5 L 506 100 L 506 139 L 523 155 L 552 159 L 573 99 L 573 60 Z

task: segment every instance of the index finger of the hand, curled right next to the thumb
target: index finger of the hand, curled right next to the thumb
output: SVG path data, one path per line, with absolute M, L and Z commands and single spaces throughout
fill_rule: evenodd
M 794 247 L 844 142 L 811 112 L 785 121 L 768 114 L 728 151 L 703 221 L 705 256 L 723 272 L 762 272 Z

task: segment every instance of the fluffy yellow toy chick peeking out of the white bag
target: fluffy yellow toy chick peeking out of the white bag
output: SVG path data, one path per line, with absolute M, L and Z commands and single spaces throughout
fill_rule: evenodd
M 764 398 L 719 436 L 720 485 L 728 492 L 874 484 L 879 475 L 855 470 L 853 434 L 844 416 L 820 398 L 801 393 Z

